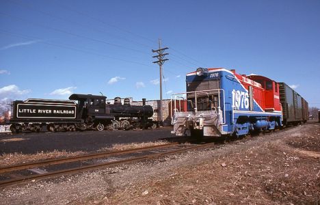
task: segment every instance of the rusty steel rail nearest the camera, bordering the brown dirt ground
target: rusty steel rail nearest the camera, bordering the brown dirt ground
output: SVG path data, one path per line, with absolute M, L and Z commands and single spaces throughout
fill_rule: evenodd
M 78 172 L 90 171 L 90 170 L 94 170 L 94 169 L 99 169 L 101 167 L 108 167 L 108 166 L 120 165 L 120 164 L 125 164 L 125 163 L 133 163 L 133 162 L 143 161 L 143 160 L 148 160 L 148 159 L 155 159 L 155 158 L 158 158 L 159 156 L 165 156 L 168 154 L 174 154 L 174 153 L 178 153 L 178 152 L 185 152 L 187 150 L 196 150 L 198 148 L 204 148 L 204 147 L 209 147 L 209 146 L 213 146 L 213 145 L 215 145 L 215 143 L 205 143 L 205 144 L 193 146 L 190 148 L 181 148 L 178 150 L 172 150 L 172 151 L 168 151 L 168 152 L 147 154 L 146 156 L 137 156 L 137 157 L 132 157 L 130 159 L 124 159 L 124 160 L 113 161 L 113 162 L 108 162 L 108 163 L 100 163 L 100 164 L 96 164 L 96 165 L 85 165 L 82 167 L 62 169 L 62 170 L 58 170 L 55 172 L 48 172 L 48 173 L 44 173 L 44 174 L 36 174 L 36 175 L 25 176 L 25 177 L 21 177 L 21 178 L 3 180 L 0 182 L 0 187 L 8 187 L 10 185 L 14 185 L 14 184 L 18 184 L 18 183 L 29 182 L 31 180 L 52 178 L 55 176 L 62 176 L 62 175 L 66 175 L 66 174 L 76 174 Z

